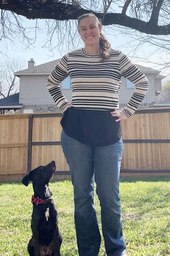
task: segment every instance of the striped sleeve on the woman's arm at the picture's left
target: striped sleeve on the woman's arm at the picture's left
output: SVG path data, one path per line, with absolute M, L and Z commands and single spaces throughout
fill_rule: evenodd
M 49 75 L 47 79 L 47 89 L 49 93 L 52 95 L 57 107 L 64 113 L 66 110 L 66 106 L 68 105 L 68 101 L 65 98 L 60 83 L 69 76 L 67 71 L 67 59 L 69 57 L 69 53 L 64 55 L 60 61 L 58 61 L 52 73 Z

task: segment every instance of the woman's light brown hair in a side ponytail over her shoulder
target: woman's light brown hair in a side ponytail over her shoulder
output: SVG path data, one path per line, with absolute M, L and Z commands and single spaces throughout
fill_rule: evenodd
M 95 14 L 85 13 L 78 18 L 78 26 L 79 26 L 80 20 L 87 18 L 87 17 L 94 18 L 97 21 L 98 25 L 101 25 L 101 21 L 96 17 Z M 111 43 L 105 38 L 104 34 L 101 32 L 100 32 L 100 36 L 99 36 L 99 45 L 100 45 L 100 55 L 102 58 L 101 61 L 105 61 L 110 57 L 108 50 L 111 47 Z

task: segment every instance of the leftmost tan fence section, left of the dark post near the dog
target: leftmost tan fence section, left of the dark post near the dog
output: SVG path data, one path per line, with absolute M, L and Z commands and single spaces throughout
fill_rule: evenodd
M 27 172 L 28 115 L 0 116 L 0 127 L 0 174 Z

